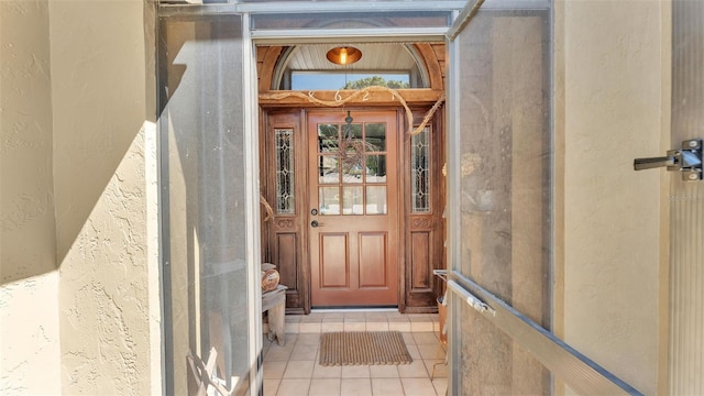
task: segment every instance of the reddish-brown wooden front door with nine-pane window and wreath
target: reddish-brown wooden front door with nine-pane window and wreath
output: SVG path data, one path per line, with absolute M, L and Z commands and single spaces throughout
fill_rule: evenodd
M 308 116 L 311 305 L 398 305 L 396 112 Z

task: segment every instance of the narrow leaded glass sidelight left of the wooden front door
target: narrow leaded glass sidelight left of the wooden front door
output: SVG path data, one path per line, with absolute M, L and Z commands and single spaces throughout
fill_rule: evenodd
M 294 175 L 294 130 L 276 129 L 276 211 L 293 215 L 296 211 Z

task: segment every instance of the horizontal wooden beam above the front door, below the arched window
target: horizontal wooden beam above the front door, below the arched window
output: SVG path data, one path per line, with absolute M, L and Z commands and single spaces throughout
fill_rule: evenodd
M 444 90 L 428 89 L 428 88 L 415 88 L 397 90 L 402 98 L 408 106 L 428 106 L 435 105 L 438 99 L 444 97 Z M 293 95 L 287 95 L 297 92 Z M 341 90 L 317 90 L 317 91 L 285 91 L 285 90 L 270 90 L 260 92 L 258 101 L 263 108 L 272 107 L 330 107 L 317 103 L 315 100 L 310 100 L 307 97 L 312 96 L 315 99 L 326 102 L 340 103 L 339 106 L 402 106 L 398 99 L 394 98 L 391 92 L 387 91 L 369 91 L 365 96 L 344 101 L 355 91 L 352 89 Z M 302 97 L 300 96 L 302 94 Z

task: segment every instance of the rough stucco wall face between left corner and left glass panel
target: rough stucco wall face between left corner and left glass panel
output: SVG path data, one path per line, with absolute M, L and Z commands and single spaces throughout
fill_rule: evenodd
M 50 3 L 65 394 L 155 389 L 148 11 L 140 0 Z

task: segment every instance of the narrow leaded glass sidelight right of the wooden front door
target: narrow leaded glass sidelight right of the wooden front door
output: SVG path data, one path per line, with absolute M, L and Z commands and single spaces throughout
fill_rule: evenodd
M 430 211 L 430 127 L 410 138 L 411 210 Z

